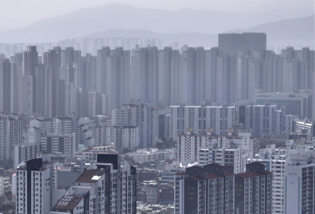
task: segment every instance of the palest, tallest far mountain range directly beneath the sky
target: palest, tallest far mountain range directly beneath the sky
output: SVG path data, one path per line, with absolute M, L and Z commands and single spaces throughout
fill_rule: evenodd
M 285 19 L 288 13 L 271 11 L 233 13 L 215 10 L 175 11 L 133 7 L 113 3 L 80 9 L 62 16 L 43 19 L 24 28 L 0 32 L 0 41 L 51 42 L 110 29 L 146 29 L 164 34 L 218 34 L 230 29 L 248 29 L 266 22 Z M 129 36 L 128 36 L 129 37 Z

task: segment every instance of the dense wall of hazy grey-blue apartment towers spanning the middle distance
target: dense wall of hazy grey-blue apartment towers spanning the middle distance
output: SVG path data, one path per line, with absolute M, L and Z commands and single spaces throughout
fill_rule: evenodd
M 36 46 L 29 46 L 10 57 L 11 62 L 1 59 L 1 70 L 6 72 L 1 74 L 0 106 L 4 113 L 56 117 L 78 111 L 89 116 L 90 92 L 108 96 L 106 106 L 111 109 L 137 99 L 163 109 L 179 102 L 231 106 L 242 100 L 254 101 L 257 92 L 313 89 L 314 51 L 287 47 L 279 55 L 254 49 L 257 42 L 264 43 L 264 34 L 257 35 L 252 34 L 251 47 L 244 46 L 237 53 L 184 45 L 180 51 L 154 46 L 136 46 L 131 51 L 102 47 L 97 56 L 81 56 L 73 47 L 54 47 L 38 56 Z M 86 96 L 82 97 L 83 92 Z

